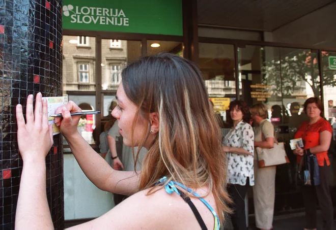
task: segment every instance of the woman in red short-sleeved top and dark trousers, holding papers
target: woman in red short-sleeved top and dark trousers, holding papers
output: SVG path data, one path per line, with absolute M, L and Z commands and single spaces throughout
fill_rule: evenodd
M 333 229 L 333 207 L 329 191 L 331 168 L 328 158 L 332 128 L 328 121 L 321 117 L 323 111 L 322 101 L 318 97 L 308 98 L 304 102 L 304 112 L 309 116 L 309 121 L 303 121 L 295 134 L 295 138 L 302 138 L 303 149 L 297 146 L 294 154 L 300 162 L 304 152 L 308 155 L 315 154 L 320 169 L 320 185 L 303 186 L 302 196 L 305 206 L 305 229 L 316 229 L 316 208 L 319 202 L 324 228 Z

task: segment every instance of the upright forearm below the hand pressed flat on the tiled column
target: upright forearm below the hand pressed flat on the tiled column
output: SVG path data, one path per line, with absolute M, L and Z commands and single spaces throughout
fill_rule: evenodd
M 15 229 L 53 229 L 46 195 L 45 159 L 24 161 Z

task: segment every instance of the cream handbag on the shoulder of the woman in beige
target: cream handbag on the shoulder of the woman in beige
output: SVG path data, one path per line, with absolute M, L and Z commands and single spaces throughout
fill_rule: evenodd
M 264 135 L 262 134 L 262 137 L 263 136 Z M 277 166 L 277 165 L 283 165 L 284 163 L 289 163 L 289 159 L 285 151 L 285 143 L 277 142 L 275 132 L 274 132 L 273 148 L 265 149 L 256 147 L 256 151 L 257 151 L 259 168 Z

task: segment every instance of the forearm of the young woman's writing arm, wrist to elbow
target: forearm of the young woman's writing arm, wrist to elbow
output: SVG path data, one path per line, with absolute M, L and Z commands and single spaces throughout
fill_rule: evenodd
M 85 175 L 98 188 L 106 191 L 104 185 L 114 170 L 79 134 L 71 138 L 66 137 L 66 140 Z

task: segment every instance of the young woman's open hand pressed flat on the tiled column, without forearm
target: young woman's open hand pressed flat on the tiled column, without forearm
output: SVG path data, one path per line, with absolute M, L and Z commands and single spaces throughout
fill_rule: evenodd
M 48 125 L 47 100 L 42 101 L 42 94 L 36 95 L 35 111 L 33 95 L 27 97 L 26 123 L 22 114 L 22 106 L 16 106 L 17 142 L 23 161 L 45 158 L 53 145 L 52 124 Z

